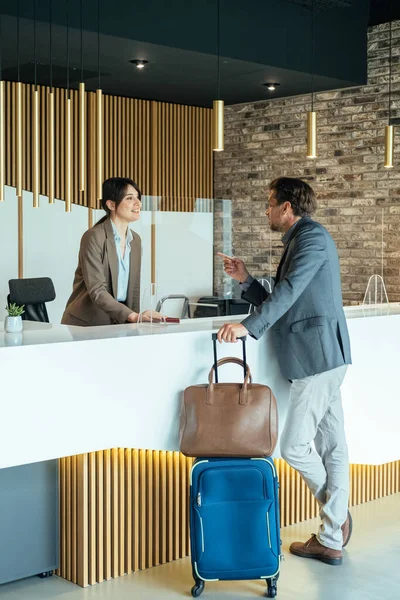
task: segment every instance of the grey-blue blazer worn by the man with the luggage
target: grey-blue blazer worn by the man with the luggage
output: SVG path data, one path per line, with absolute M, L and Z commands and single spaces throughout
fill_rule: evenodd
M 254 280 L 242 294 L 257 307 L 243 325 L 256 339 L 271 330 L 278 363 L 287 379 L 350 364 L 334 241 L 322 225 L 303 217 L 284 242 L 272 293 Z

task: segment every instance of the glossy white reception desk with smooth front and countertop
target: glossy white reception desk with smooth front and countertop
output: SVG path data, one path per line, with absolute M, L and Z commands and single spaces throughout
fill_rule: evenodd
M 400 305 L 346 308 L 353 365 L 342 388 L 350 461 L 400 459 Z M 0 468 L 95 450 L 178 450 L 182 390 L 207 381 L 211 332 L 240 317 L 179 325 L 79 328 L 25 322 L 22 334 L 0 328 Z M 249 338 L 254 380 L 276 395 L 282 429 L 289 382 L 280 374 L 268 334 Z M 223 344 L 220 356 L 240 356 Z M 240 380 L 224 367 L 220 380 Z M 279 448 L 276 456 L 279 456 Z

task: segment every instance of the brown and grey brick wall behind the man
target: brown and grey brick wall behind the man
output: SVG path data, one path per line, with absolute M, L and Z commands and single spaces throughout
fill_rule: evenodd
M 383 167 L 388 81 L 386 23 L 368 34 L 368 85 L 316 94 L 316 160 L 306 158 L 309 94 L 226 108 L 225 151 L 215 153 L 215 198 L 232 200 L 232 251 L 246 261 L 255 276 L 269 273 L 271 263 L 272 270 L 276 268 L 282 248 L 279 234 L 269 231 L 264 216 L 268 183 L 280 175 L 301 177 L 317 192 L 315 218 L 336 241 L 344 303 L 361 302 L 369 276 L 381 274 L 382 215 L 383 276 L 389 300 L 400 301 L 398 136 L 395 167 Z M 399 117 L 400 21 L 392 24 L 391 107 L 392 116 Z M 218 247 L 226 219 L 223 225 L 218 203 L 216 211 Z M 216 261 L 215 288 L 219 293 L 222 275 Z

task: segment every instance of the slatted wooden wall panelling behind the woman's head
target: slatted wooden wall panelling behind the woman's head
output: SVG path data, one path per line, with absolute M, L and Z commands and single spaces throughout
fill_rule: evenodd
M 38 87 L 40 98 L 39 151 L 40 193 L 49 196 L 48 87 Z M 22 184 L 33 187 L 32 107 L 34 88 L 22 84 Z M 65 199 L 66 114 L 65 90 L 54 89 L 55 195 Z M 86 189 L 79 191 L 79 92 L 71 90 L 72 200 L 98 208 L 96 194 L 96 94 L 86 93 Z M 5 83 L 6 185 L 15 186 L 17 176 L 17 84 Z M 103 174 L 128 176 L 144 195 L 161 196 L 161 210 L 193 210 L 196 198 L 213 196 L 211 110 L 103 96 Z

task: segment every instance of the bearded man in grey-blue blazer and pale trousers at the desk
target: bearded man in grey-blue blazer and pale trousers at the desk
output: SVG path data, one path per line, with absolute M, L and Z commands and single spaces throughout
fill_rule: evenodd
M 311 218 L 313 189 L 289 177 L 275 179 L 269 188 L 266 216 L 284 245 L 274 288 L 268 294 L 241 259 L 220 254 L 225 272 L 240 282 L 242 297 L 256 309 L 242 323 L 224 325 L 218 339 L 258 340 L 270 330 L 282 375 L 291 382 L 281 454 L 317 499 L 321 517 L 317 535 L 293 542 L 290 551 L 340 565 L 352 519 L 340 395 L 351 355 L 339 259 L 328 231 Z

